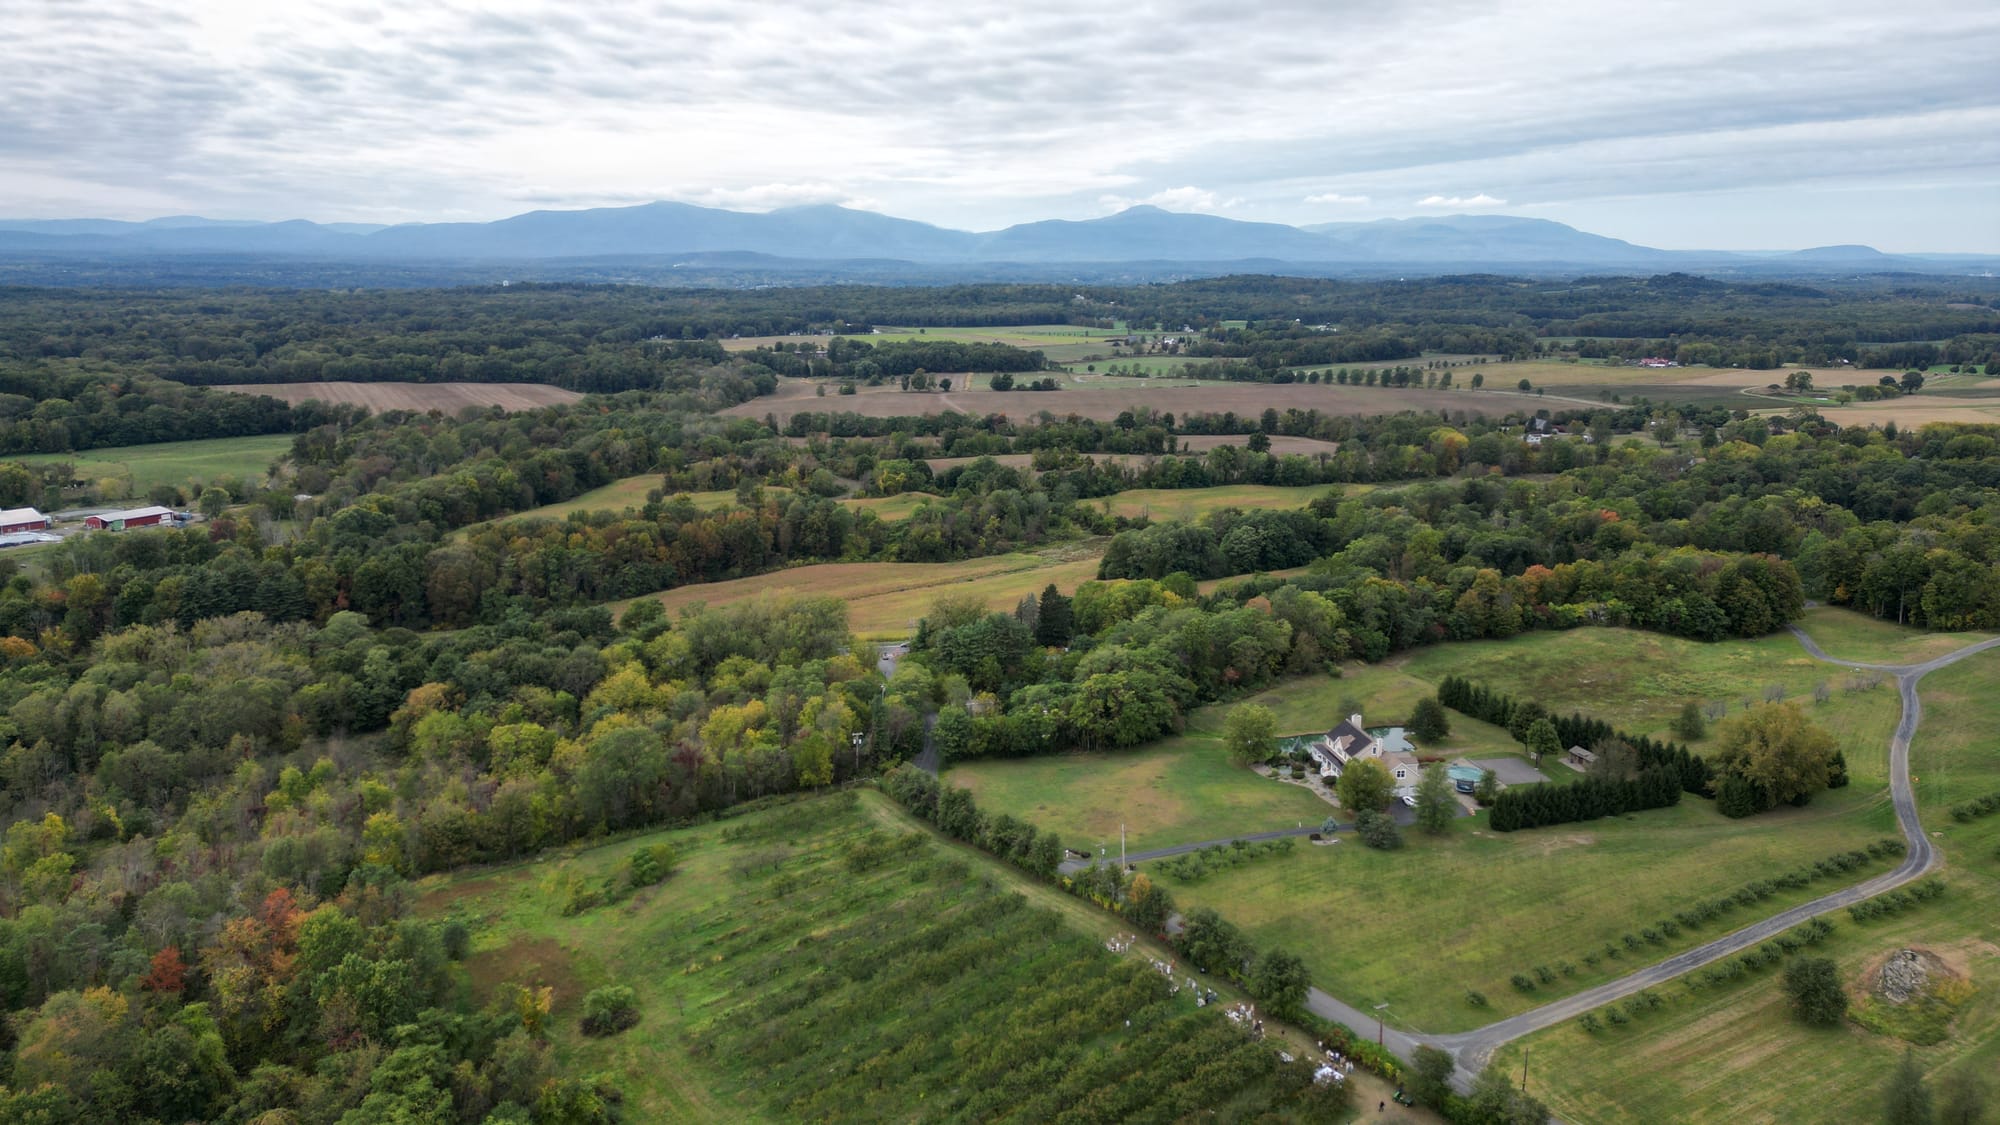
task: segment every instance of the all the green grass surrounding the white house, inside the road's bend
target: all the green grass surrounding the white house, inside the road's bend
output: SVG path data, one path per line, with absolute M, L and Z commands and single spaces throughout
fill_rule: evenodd
M 1408 847 L 1398 853 L 1352 841 L 1306 847 L 1288 861 L 1174 891 L 1184 905 L 1214 905 L 1260 945 L 1292 949 L 1306 959 L 1314 983 L 1334 995 L 1392 1003 L 1406 1027 L 1460 1031 L 1526 1011 L 1722 931 L 1710 925 L 1714 933 L 1688 931 L 1658 947 L 1622 951 L 1620 959 L 1604 959 L 1594 969 L 1584 965 L 1586 953 L 1606 943 L 1622 945 L 1626 933 L 1746 881 L 1894 835 L 1884 789 L 1886 745 L 1898 715 L 1894 689 L 1834 691 L 1818 705 L 1810 693 L 1820 669 L 1826 667 L 1806 659 L 1790 637 L 1694 645 L 1634 631 L 1578 629 L 1422 649 L 1388 665 L 1346 667 L 1340 679 L 1282 683 L 1250 697 L 1272 709 L 1282 733 L 1324 731 L 1350 705 L 1358 705 L 1370 725 L 1400 723 L 1448 673 L 1522 699 L 1544 699 L 1564 713 L 1604 715 L 1638 733 L 1664 731 L 1684 699 L 1730 699 L 1736 709 L 1744 685 L 1762 697 L 1764 685 L 1782 683 L 1836 733 L 1854 785 L 1820 795 L 1806 809 L 1748 821 L 1728 821 L 1700 799 L 1670 811 L 1506 835 L 1484 833 L 1482 819 L 1460 819 L 1440 839 L 1406 833 Z M 950 781 L 974 789 L 982 807 L 1090 845 L 1116 843 L 1120 821 L 1132 841 L 1144 841 L 1140 847 L 1158 847 L 1292 827 L 1314 815 L 1324 819 L 1330 809 L 1316 797 L 1222 761 L 1216 739 L 1228 707 L 1196 711 L 1184 737 L 1140 751 L 976 763 L 954 767 Z M 1450 719 L 1452 735 L 1420 747 L 1422 753 L 1478 759 L 1520 751 L 1498 727 L 1456 713 Z M 1696 749 L 1706 751 L 1708 743 L 1712 739 Z M 1548 761 L 1544 773 L 1556 781 L 1572 777 Z M 1290 803 L 1294 793 L 1312 805 Z M 1240 819 L 1232 821 L 1238 811 Z M 1874 865 L 1852 879 L 1880 869 Z M 1814 883 L 1758 913 L 1830 887 Z M 1508 983 L 1514 973 L 1562 961 L 1576 973 L 1532 997 Z M 1412 963 L 1426 971 L 1412 973 Z M 1468 989 L 1484 993 L 1490 1007 L 1468 1005 Z

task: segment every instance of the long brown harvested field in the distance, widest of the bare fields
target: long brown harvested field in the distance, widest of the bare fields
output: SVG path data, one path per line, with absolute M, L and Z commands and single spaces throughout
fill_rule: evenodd
M 1090 390 L 952 390 L 948 394 L 912 394 L 894 386 L 866 386 L 856 394 L 818 396 L 808 380 L 786 380 L 778 394 L 752 398 L 724 410 L 744 418 L 772 416 L 784 426 L 792 414 L 852 412 L 868 418 L 904 418 L 914 414 L 1008 414 L 1032 418 L 1048 412 L 1056 418 L 1112 420 L 1134 406 L 1186 414 L 1260 414 L 1274 410 L 1320 410 L 1322 414 L 1396 414 L 1402 410 L 1450 410 L 1454 414 L 1506 414 L 1534 410 L 1520 396 L 1478 394 L 1470 390 L 1384 390 L 1378 386 L 1326 386 L 1298 382 L 1234 382 L 1210 386 L 1158 386 L 1144 378 L 1130 386 L 1094 386 Z

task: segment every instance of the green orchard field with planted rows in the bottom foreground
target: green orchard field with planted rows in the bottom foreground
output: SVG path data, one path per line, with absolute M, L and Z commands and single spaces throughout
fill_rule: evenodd
M 666 883 L 558 913 L 564 887 L 654 843 L 680 855 Z M 554 989 L 558 1067 L 610 1073 L 628 1121 L 1042 1121 L 1090 1095 L 1150 1117 L 1150 1097 L 1210 1059 L 1304 1051 L 1298 1033 L 1252 1043 L 1220 1007 L 1168 995 L 1144 961 L 1166 951 L 1108 951 L 1116 917 L 872 791 L 426 881 L 420 911 L 472 923 L 476 1003 Z M 612 983 L 638 993 L 640 1023 L 584 1037 L 584 993 Z M 1204 1101 L 1254 1115 L 1274 1097 L 1254 1079 Z

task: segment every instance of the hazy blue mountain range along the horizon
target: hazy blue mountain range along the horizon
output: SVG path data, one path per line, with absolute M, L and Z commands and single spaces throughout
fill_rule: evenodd
M 1542 218 L 1454 214 L 1284 226 L 1214 214 L 1134 206 L 1082 222 L 1046 220 L 970 232 L 842 206 L 772 212 L 718 210 L 682 202 L 592 210 L 532 210 L 498 222 L 228 222 L 198 216 L 120 222 L 104 218 L 0 220 L 4 258 L 144 258 L 244 254 L 342 262 L 552 262 L 674 258 L 702 264 L 716 254 L 760 254 L 800 262 L 916 266 L 1060 266 L 1154 262 L 1242 264 L 1276 272 L 1286 264 L 1396 270 L 1472 268 L 1752 268 L 1752 270 L 1966 270 L 2000 258 L 1882 254 L 1870 246 L 1820 246 L 1794 254 L 1656 250 L 1588 234 Z M 1018 270 L 1006 270 L 1018 272 Z

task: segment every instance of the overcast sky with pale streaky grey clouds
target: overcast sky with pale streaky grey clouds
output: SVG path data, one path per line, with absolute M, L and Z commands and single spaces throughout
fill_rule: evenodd
M 2000 0 L 0 0 L 0 216 L 1528 214 L 2000 252 Z

